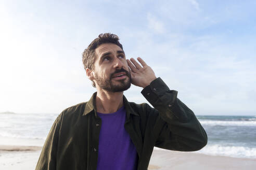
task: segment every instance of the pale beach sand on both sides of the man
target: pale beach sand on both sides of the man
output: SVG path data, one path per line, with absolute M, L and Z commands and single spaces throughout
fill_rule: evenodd
M 0 146 L 0 169 L 35 169 L 42 147 Z M 256 159 L 220 157 L 194 152 L 154 150 L 148 169 L 255 169 Z

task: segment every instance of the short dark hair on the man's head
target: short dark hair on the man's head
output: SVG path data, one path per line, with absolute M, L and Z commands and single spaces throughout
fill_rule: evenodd
M 82 61 L 84 69 L 94 69 L 95 49 L 101 44 L 106 43 L 116 44 L 123 50 L 123 46 L 119 43 L 119 37 L 117 35 L 111 33 L 99 34 L 83 52 Z

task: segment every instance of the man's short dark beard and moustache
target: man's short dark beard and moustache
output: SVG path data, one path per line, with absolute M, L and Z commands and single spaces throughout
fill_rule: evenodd
M 125 72 L 126 76 L 128 77 L 128 80 L 127 80 L 127 78 L 116 80 L 118 82 L 116 82 L 116 84 L 114 84 L 113 81 L 111 81 L 111 79 L 114 78 L 113 77 L 114 74 L 117 74 L 120 72 Z M 130 72 L 127 72 L 123 68 L 116 70 L 114 73 L 111 73 L 109 78 L 107 78 L 107 79 L 104 79 L 98 75 L 95 75 L 95 80 L 97 81 L 97 84 L 101 89 L 104 89 L 108 92 L 122 92 L 131 87 L 131 74 L 130 74 Z

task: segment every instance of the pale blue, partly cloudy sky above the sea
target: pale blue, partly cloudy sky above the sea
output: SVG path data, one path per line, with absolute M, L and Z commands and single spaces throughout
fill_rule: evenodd
M 96 91 L 82 52 L 120 37 L 196 115 L 256 115 L 256 1 L 0 0 L 0 112 L 60 113 Z M 124 92 L 147 102 L 142 88 Z M 148 102 L 147 102 L 148 103 Z

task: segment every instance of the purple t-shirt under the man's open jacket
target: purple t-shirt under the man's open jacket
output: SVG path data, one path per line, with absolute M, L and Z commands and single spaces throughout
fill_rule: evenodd
M 137 169 L 137 151 L 124 129 L 125 109 L 112 114 L 101 114 L 97 170 Z

